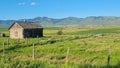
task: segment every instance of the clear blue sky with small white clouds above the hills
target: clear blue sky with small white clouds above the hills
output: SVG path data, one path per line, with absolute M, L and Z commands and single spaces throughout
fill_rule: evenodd
M 120 0 L 0 0 L 0 20 L 120 16 Z

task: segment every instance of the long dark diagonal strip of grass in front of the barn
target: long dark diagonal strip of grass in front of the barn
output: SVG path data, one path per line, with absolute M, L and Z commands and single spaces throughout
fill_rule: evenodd
M 57 43 L 57 42 L 64 42 L 64 41 L 72 41 L 72 40 L 77 40 L 77 39 L 86 39 L 86 38 L 90 38 L 92 37 L 93 35 L 90 35 L 90 36 L 86 36 L 86 37 L 70 37 L 70 38 L 67 38 L 67 39 L 49 39 L 49 40 L 46 40 L 45 42 L 42 42 L 42 43 L 35 43 L 35 46 L 37 45 L 46 45 L 46 44 L 54 44 L 54 43 Z M 27 45 L 22 45 L 22 44 L 15 44 L 14 46 L 10 46 L 10 47 L 7 47 L 5 48 L 6 51 L 10 51 L 10 50 L 16 50 L 16 49 L 19 49 L 19 48 L 25 48 L 25 47 L 31 47 L 33 46 L 33 44 L 27 44 Z M 3 49 L 0 50 L 0 52 L 3 52 Z

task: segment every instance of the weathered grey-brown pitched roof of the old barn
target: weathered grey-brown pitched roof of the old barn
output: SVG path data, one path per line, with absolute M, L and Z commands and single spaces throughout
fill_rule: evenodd
M 15 24 L 18 23 L 23 29 L 34 29 L 34 28 L 42 28 L 41 25 L 35 23 L 35 22 L 24 22 L 24 21 L 16 21 L 14 22 L 10 28 Z M 10 29 L 9 28 L 9 29 Z

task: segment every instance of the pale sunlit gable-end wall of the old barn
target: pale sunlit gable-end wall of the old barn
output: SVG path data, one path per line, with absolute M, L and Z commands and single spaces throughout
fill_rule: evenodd
M 23 36 L 23 28 L 15 23 L 9 30 L 10 38 L 21 39 L 24 38 Z

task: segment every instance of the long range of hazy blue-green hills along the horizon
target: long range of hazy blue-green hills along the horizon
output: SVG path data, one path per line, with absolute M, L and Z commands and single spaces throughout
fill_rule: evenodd
M 23 19 L 17 20 L 21 21 Z M 90 16 L 86 18 L 67 17 L 54 19 L 48 17 L 36 17 L 26 19 L 27 21 L 38 22 L 42 26 L 86 26 L 86 25 L 120 25 L 120 17 L 115 16 Z M 0 20 L 0 27 L 9 27 L 15 20 Z

